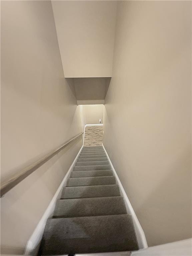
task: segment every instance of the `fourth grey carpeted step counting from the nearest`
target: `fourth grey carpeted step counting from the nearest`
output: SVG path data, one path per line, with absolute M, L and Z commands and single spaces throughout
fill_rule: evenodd
M 116 184 L 114 176 L 103 177 L 86 177 L 86 178 L 69 178 L 67 180 L 67 187 L 76 186 L 95 186 L 95 185 L 111 185 Z

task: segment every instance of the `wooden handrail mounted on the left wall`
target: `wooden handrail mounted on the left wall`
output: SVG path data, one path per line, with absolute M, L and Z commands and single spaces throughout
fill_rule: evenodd
M 31 165 L 27 166 L 19 174 L 14 175 L 9 180 L 5 181 L 1 185 L 0 194 L 1 197 L 5 195 L 9 190 L 11 190 L 13 187 L 15 187 L 18 183 L 20 183 L 22 180 L 24 180 L 27 176 L 29 176 L 31 173 L 33 173 L 35 170 L 37 170 L 40 166 L 42 166 L 44 163 L 46 163 L 49 159 L 51 159 L 53 156 L 58 154 L 61 150 L 63 150 L 65 147 L 67 147 L 70 143 L 72 143 L 74 140 L 78 139 L 84 132 L 79 133 L 72 139 L 68 140 L 65 144 L 63 144 L 61 147 L 55 149 L 51 153 L 47 154 L 43 158 L 41 158 L 39 161 L 36 161 L 32 163 Z

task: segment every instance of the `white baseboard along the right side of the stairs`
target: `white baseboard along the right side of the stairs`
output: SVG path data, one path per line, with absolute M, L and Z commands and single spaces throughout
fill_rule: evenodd
M 138 241 L 138 244 L 139 244 L 139 249 L 148 248 L 147 241 L 146 241 L 146 238 L 145 238 L 145 234 L 144 234 L 144 231 L 143 231 L 143 229 L 141 227 L 141 224 L 139 223 L 139 220 L 138 220 L 138 218 L 137 218 L 137 216 L 136 216 L 136 214 L 135 214 L 135 212 L 133 210 L 133 207 L 132 207 L 132 205 L 131 205 L 131 203 L 129 201 L 129 198 L 127 197 L 127 194 L 126 194 L 126 192 L 125 192 L 125 190 L 124 190 L 124 188 L 123 188 L 123 186 L 121 184 L 121 181 L 120 181 L 120 179 L 119 179 L 119 177 L 118 177 L 118 175 L 117 175 L 117 173 L 115 171 L 115 168 L 113 167 L 113 164 L 112 164 L 112 162 L 111 162 L 111 160 L 110 160 L 110 158 L 109 158 L 109 156 L 107 154 L 107 151 L 106 151 L 104 146 L 103 146 L 103 149 L 104 149 L 104 151 L 105 151 L 105 153 L 107 155 L 107 158 L 109 160 L 109 163 L 111 165 L 111 168 L 113 170 L 115 178 L 116 178 L 117 183 L 119 185 L 121 194 L 122 194 L 122 196 L 124 198 L 125 205 L 126 205 L 126 208 L 127 208 L 127 212 L 129 214 L 131 214 L 131 216 L 132 216 L 133 223 L 134 223 L 134 228 L 135 228 L 135 233 L 136 233 L 136 236 L 137 236 L 137 241 Z

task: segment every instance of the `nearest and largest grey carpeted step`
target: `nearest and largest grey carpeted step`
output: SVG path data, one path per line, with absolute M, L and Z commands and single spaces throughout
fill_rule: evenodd
M 132 218 L 128 214 L 48 219 L 41 255 L 137 250 Z

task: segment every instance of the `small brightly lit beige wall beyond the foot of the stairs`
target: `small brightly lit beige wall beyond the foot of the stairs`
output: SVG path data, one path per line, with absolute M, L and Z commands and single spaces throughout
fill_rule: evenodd
M 82 122 L 86 124 L 99 124 L 99 119 L 103 123 L 104 105 L 80 105 L 82 111 Z

